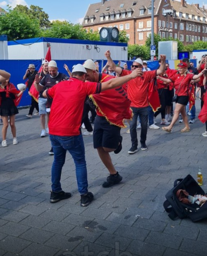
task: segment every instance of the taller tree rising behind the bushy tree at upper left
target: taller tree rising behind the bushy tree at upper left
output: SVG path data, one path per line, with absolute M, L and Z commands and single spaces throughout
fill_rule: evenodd
M 19 13 L 25 13 L 28 16 L 30 16 L 31 19 L 38 19 L 40 23 L 40 27 L 50 27 L 51 23 L 48 20 L 49 16 L 47 13 L 43 11 L 43 8 L 39 6 L 32 5 L 30 8 L 27 6 L 17 4 L 17 6 L 14 8 L 14 10 L 17 10 Z

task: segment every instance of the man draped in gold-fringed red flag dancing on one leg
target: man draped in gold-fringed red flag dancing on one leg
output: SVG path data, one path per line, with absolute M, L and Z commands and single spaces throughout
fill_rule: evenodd
M 90 82 L 98 83 L 115 79 L 113 76 L 99 73 L 93 60 L 86 60 L 83 66 L 87 72 L 86 80 Z M 141 75 L 142 69 L 138 70 Z M 132 116 L 130 100 L 122 86 L 99 95 L 94 94 L 91 98 L 97 107 L 93 133 L 94 148 L 97 149 L 99 157 L 110 173 L 102 186 L 111 187 L 122 180 L 122 176 L 113 166 L 109 153 L 118 154 L 122 149 L 120 130 L 121 127 L 125 127 L 123 119 L 130 119 Z

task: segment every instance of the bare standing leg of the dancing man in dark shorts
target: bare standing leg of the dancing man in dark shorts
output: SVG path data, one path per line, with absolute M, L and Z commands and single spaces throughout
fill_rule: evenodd
M 105 148 L 98 147 L 97 150 L 98 150 L 99 157 L 101 158 L 101 161 L 104 163 L 104 165 L 108 169 L 109 173 L 116 174 L 116 170 L 111 161 L 111 156 L 109 155 L 109 152 L 112 152 L 115 149 L 108 149 L 106 147 Z

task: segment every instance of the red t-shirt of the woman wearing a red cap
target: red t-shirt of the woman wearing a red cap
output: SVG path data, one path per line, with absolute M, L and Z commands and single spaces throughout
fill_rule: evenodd
M 194 74 L 186 74 L 186 76 L 174 74 L 169 78 L 174 82 L 175 94 L 177 94 L 177 96 L 189 96 L 190 80 L 193 79 L 193 76 Z

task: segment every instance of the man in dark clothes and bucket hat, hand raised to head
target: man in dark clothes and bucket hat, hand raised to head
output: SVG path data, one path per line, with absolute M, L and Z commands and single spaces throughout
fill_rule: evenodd
M 28 83 L 27 83 L 28 90 L 30 90 L 36 74 L 37 74 L 37 70 L 35 70 L 34 64 L 29 64 L 28 69 L 26 70 L 26 73 L 23 76 L 23 80 L 28 79 Z M 37 114 L 38 114 L 39 113 L 38 103 L 33 99 L 33 97 L 31 97 L 31 107 L 26 117 L 32 118 L 34 108 L 37 109 Z

